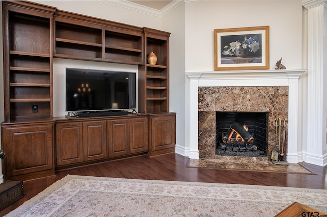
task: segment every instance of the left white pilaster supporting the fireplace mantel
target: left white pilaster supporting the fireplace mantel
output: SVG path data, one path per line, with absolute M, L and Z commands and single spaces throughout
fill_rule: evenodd
M 198 129 L 199 129 L 199 78 L 201 73 L 188 75 L 190 79 L 190 116 L 188 117 L 189 126 L 186 126 L 186 131 L 190 132 L 190 154 L 189 158 L 199 159 L 199 148 L 198 148 Z M 187 117 L 186 117 L 187 118 Z

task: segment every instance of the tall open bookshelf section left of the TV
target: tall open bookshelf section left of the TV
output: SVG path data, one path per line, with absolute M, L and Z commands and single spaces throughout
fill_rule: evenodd
M 9 8 L 4 4 L 5 120 L 52 117 L 52 14 Z

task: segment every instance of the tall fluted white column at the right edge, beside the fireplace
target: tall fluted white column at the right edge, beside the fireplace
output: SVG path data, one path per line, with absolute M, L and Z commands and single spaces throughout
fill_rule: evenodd
M 308 9 L 308 163 L 327 165 L 327 1 L 303 4 Z

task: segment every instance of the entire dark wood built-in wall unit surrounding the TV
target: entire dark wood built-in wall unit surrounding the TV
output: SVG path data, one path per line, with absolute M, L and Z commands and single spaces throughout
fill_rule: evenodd
M 173 152 L 169 112 L 170 33 L 2 1 L 5 179 L 54 175 L 55 168 Z M 147 56 L 154 52 L 155 65 Z M 138 112 L 126 116 L 53 117 L 53 57 L 138 65 Z

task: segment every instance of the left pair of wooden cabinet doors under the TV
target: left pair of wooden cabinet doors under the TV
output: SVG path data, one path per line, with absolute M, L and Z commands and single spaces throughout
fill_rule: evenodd
M 106 159 L 106 120 L 69 121 L 56 123 L 56 167 Z

